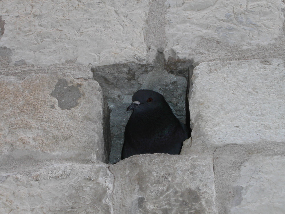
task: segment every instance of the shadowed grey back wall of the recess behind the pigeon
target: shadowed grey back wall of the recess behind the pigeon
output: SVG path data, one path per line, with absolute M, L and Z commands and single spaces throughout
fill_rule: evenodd
M 139 89 L 150 89 L 161 93 L 169 103 L 174 114 L 185 123 L 185 100 L 187 81 L 164 69 L 162 54 L 153 64 L 119 64 L 92 68 L 93 76 L 107 96 L 111 109 L 112 148 L 110 163 L 121 160 L 124 130 L 131 112 L 126 112 L 131 97 Z M 163 78 L 162 78 L 163 77 Z

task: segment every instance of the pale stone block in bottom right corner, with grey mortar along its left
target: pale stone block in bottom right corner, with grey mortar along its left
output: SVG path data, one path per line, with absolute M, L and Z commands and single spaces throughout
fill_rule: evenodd
M 280 208 L 280 201 L 275 194 L 277 196 L 280 194 L 278 189 L 282 189 L 281 186 L 284 183 L 283 177 L 280 176 L 284 171 L 280 170 L 280 167 L 284 165 L 281 163 L 284 159 L 281 157 L 284 155 L 285 144 L 280 146 L 280 142 L 267 142 L 267 144 L 261 142 L 258 147 L 235 144 L 218 147 L 213 153 L 218 213 L 230 213 L 231 210 L 237 213 L 243 213 L 243 211 L 245 213 L 262 213 L 255 211 L 255 208 L 258 208 L 258 205 L 262 207 L 266 201 Z M 245 165 L 247 165 L 246 168 Z M 270 165 L 271 167 L 269 167 Z M 268 170 L 272 175 L 268 174 Z M 248 182 L 247 176 L 250 176 L 252 183 Z M 280 180 L 280 187 L 278 187 L 279 181 L 274 182 L 275 184 L 270 180 L 264 181 L 264 177 L 269 178 L 270 176 L 275 177 L 271 181 Z M 254 187 L 253 183 L 256 184 Z M 268 191 L 268 194 L 264 196 L 263 191 L 257 190 L 259 188 L 271 189 L 271 191 Z M 259 193 L 260 195 L 258 195 Z M 251 194 L 253 194 L 252 197 Z M 247 205 L 245 205 L 246 203 Z M 275 213 L 276 211 L 269 204 L 268 209 L 270 211 L 265 213 Z M 264 211 L 268 211 L 268 209 L 264 209 Z

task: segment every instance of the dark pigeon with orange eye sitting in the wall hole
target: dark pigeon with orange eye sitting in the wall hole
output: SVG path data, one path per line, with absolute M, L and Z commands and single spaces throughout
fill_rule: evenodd
M 133 94 L 133 110 L 125 128 L 122 159 L 137 154 L 179 154 L 188 129 L 172 112 L 164 97 L 152 90 Z

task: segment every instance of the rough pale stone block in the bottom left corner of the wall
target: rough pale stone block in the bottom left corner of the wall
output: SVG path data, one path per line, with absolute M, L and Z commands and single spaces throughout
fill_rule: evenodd
M 107 164 L 64 163 L 29 170 L 1 171 L 0 213 L 113 213 L 114 178 Z

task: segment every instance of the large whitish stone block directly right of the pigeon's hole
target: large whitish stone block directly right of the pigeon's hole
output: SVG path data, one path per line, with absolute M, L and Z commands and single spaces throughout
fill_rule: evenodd
M 190 94 L 191 150 L 227 144 L 266 149 L 285 141 L 284 61 L 201 63 Z

